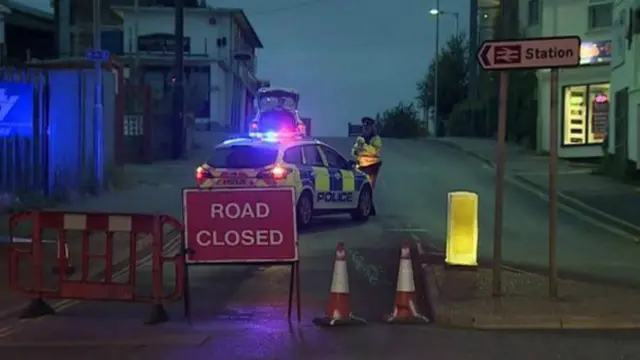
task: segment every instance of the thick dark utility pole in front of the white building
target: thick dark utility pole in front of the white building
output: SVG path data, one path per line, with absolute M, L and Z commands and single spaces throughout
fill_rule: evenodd
M 184 0 L 176 0 L 175 17 L 175 60 L 176 81 L 173 84 L 173 106 L 171 123 L 173 124 L 173 158 L 179 159 L 185 152 L 184 124 Z

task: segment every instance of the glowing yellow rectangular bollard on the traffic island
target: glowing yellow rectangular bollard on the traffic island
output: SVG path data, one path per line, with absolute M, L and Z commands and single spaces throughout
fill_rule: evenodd
M 449 193 L 447 214 L 447 265 L 478 265 L 478 194 Z

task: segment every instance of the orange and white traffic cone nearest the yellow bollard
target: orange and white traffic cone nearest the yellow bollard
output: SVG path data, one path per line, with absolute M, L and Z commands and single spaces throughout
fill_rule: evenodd
M 413 279 L 411 248 L 406 242 L 400 251 L 400 268 L 396 287 L 396 305 L 387 316 L 389 323 L 429 323 L 429 319 L 418 312 L 416 307 L 416 284 Z

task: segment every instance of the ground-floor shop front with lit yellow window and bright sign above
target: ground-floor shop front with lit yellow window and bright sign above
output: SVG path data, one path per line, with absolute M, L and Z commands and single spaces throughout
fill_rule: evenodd
M 609 129 L 610 41 L 583 43 L 582 65 L 562 69 L 558 77 L 558 156 L 594 158 L 603 155 Z M 549 71 L 538 72 L 538 150 L 549 151 Z

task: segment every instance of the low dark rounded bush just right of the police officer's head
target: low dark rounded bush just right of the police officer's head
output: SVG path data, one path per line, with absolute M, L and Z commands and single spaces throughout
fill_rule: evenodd
M 409 138 L 424 134 L 420 117 L 413 103 L 402 102 L 376 115 L 376 125 L 380 135 L 385 137 Z

